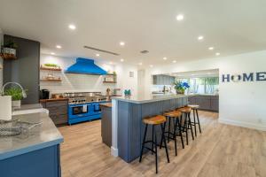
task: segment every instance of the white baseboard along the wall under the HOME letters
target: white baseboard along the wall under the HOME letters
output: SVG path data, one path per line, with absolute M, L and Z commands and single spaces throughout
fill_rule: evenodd
M 243 121 L 237 121 L 237 120 L 231 120 L 231 119 L 221 119 L 221 118 L 219 119 L 219 122 L 222 124 L 228 124 L 231 126 L 247 127 L 247 128 L 251 128 L 251 129 L 266 131 L 266 126 L 257 125 L 257 124 L 253 124 L 250 122 L 243 122 Z

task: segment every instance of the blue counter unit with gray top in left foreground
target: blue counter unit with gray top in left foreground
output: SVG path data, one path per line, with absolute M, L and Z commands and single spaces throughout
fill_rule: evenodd
M 45 112 L 14 115 L 12 119 L 41 125 L 20 135 L 0 136 L 0 176 L 59 177 L 63 137 Z

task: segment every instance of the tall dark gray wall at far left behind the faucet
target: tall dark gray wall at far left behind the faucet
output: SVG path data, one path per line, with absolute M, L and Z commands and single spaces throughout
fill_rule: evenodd
M 40 42 L 11 35 L 4 35 L 4 42 L 12 40 L 18 44 L 16 60 L 4 60 L 4 83 L 17 81 L 27 89 L 27 98 L 22 104 L 39 103 Z

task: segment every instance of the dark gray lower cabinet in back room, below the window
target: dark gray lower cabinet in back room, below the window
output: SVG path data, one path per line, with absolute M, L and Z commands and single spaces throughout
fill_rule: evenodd
M 219 96 L 190 96 L 189 104 L 200 105 L 201 110 L 219 112 Z

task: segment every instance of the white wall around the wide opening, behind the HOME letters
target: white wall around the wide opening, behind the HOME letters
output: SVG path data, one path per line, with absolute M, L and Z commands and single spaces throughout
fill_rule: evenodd
M 142 88 L 152 90 L 152 74 L 219 69 L 220 114 L 223 123 L 266 130 L 266 81 L 221 82 L 222 74 L 266 72 L 266 50 L 224 58 L 207 58 L 194 62 L 176 63 L 146 70 Z

